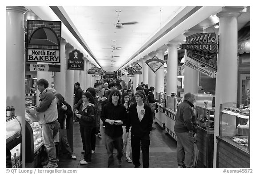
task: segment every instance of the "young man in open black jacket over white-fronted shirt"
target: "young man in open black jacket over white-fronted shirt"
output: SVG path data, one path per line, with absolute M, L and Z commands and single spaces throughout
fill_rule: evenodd
M 136 104 L 129 108 L 126 132 L 131 128 L 132 162 L 134 168 L 140 167 L 140 143 L 142 151 L 143 168 L 149 167 L 149 133 L 152 128 L 152 112 L 146 102 L 144 91 L 138 90 L 135 94 Z

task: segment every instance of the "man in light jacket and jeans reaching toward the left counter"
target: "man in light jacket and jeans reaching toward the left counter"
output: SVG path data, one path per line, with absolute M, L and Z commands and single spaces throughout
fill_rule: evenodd
M 48 88 L 49 83 L 45 79 L 36 81 L 37 89 L 40 91 L 40 103 L 35 108 L 27 109 L 29 114 L 36 114 L 36 120 L 41 124 L 44 146 L 48 155 L 48 164 L 44 168 L 57 168 L 56 148 L 54 144 L 53 131 L 58 124 L 57 103 L 54 93 L 55 89 Z

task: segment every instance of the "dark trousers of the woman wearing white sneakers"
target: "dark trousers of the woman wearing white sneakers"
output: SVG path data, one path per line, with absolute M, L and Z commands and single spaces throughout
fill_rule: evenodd
M 84 160 L 92 162 L 92 147 L 91 147 L 91 134 L 92 128 L 85 128 L 80 125 L 80 133 L 83 142 Z

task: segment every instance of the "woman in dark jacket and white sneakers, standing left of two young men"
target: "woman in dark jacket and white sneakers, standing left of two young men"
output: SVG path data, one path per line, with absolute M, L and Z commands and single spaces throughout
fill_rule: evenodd
M 82 99 L 83 104 L 80 106 L 79 114 L 76 114 L 79 118 L 80 133 L 84 149 L 84 159 L 80 161 L 80 164 L 89 164 L 92 162 L 91 134 L 92 128 L 96 127 L 96 109 L 95 100 L 91 93 L 83 93 Z

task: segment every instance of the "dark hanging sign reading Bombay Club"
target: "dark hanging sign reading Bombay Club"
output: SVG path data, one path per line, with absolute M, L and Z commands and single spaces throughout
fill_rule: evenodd
M 80 50 L 73 50 L 69 53 L 68 70 L 84 70 L 84 54 Z

